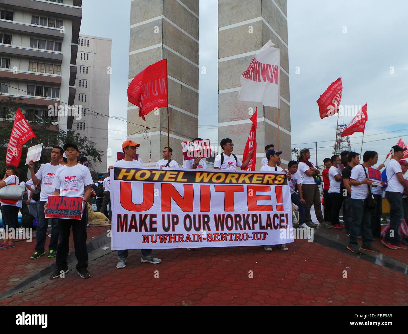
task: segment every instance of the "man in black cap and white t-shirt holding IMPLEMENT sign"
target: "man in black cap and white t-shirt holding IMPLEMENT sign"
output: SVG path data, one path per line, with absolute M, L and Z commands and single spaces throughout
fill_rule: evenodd
M 55 190 L 51 195 L 82 197 L 82 218 L 59 219 L 60 243 L 58 243 L 56 256 L 57 269 L 49 278 L 56 279 L 60 277 L 62 272 L 66 274 L 69 271 L 67 257 L 69 253 L 69 234 L 72 228 L 75 257 L 78 260 L 75 268 L 82 279 L 87 279 L 91 274 L 89 274 L 89 271 L 86 269 L 88 267 L 88 250 L 86 249 L 86 215 L 84 210 L 88 210 L 86 202 L 91 197 L 93 180 L 89 168 L 77 162 L 79 155 L 78 146 L 75 144 L 65 144 L 63 148 L 67 155 L 68 163 L 58 168 L 55 173 L 52 182 L 52 187 Z M 44 210 L 47 210 L 47 203 L 44 204 Z

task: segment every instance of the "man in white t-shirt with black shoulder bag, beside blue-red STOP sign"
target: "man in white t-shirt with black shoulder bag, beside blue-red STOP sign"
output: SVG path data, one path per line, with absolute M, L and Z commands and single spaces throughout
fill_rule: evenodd
M 357 243 L 361 235 L 361 250 L 379 253 L 373 247 L 373 234 L 371 232 L 371 209 L 367 207 L 367 197 L 371 191 L 371 181 L 368 178 L 368 168 L 378 161 L 378 154 L 375 151 L 366 151 L 363 155 L 363 164 L 353 167 L 348 184 L 351 186 L 351 210 L 353 211 L 350 226 L 350 241 L 347 249 L 353 253 L 360 253 Z M 361 231 L 361 234 L 360 234 Z

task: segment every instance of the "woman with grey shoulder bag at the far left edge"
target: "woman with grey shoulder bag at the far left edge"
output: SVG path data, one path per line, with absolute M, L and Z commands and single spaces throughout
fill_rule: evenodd
M 20 172 L 16 166 L 7 165 L 6 173 L 0 181 L 0 188 L 6 187 L 10 184 L 20 184 L 20 179 L 18 178 L 19 175 Z M 18 210 L 21 208 L 21 200 L 0 199 L 0 203 L 4 232 L 8 231 L 11 236 L 14 234 L 14 238 L 11 238 L 9 233 L 4 234 L 4 241 L 0 244 L 0 249 L 3 250 L 16 247 L 14 239 L 16 239 L 16 233 L 18 230 Z

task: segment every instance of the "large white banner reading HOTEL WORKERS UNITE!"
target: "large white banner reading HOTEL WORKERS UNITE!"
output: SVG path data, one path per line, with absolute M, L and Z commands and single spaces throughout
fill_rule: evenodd
M 282 172 L 113 168 L 112 249 L 293 242 Z

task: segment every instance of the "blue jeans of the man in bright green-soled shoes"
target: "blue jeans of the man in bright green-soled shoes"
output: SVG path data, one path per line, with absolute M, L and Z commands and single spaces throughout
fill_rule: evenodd
M 58 228 L 58 219 L 55 218 L 45 218 L 44 204 L 46 201 L 37 201 L 37 245 L 35 246 L 35 251 L 39 253 L 45 252 L 45 239 L 47 239 L 47 228 L 48 221 L 51 222 L 51 240 L 48 246 L 49 250 L 57 250 L 58 239 L 60 237 L 60 230 Z M 31 204 L 30 204 L 31 205 Z

